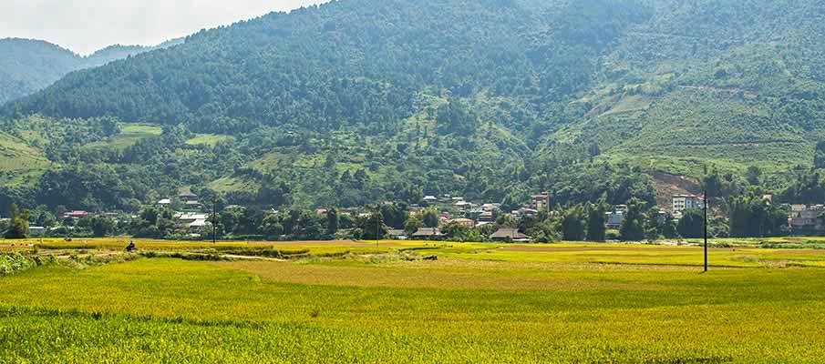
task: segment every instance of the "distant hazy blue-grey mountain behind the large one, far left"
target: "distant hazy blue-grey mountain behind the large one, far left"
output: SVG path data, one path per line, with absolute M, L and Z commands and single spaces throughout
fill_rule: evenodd
M 180 42 L 182 39 L 158 46 L 111 45 L 93 55 L 78 56 L 41 40 L 0 39 L 0 104 L 31 95 L 72 71 L 103 66 L 111 61 Z

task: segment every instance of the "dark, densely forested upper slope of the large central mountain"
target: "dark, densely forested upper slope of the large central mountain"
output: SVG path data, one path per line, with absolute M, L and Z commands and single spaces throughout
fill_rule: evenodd
M 603 48 L 646 15 L 621 0 L 334 2 L 191 35 L 15 106 L 195 128 L 335 129 L 395 123 L 427 87 L 546 104 L 589 86 Z

